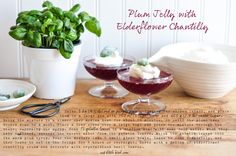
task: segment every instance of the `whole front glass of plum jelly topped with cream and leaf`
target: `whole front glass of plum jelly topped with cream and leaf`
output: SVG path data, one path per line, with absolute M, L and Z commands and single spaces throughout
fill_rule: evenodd
M 117 78 L 125 89 L 139 95 L 137 100 L 122 104 L 124 111 L 137 115 L 156 115 L 165 110 L 164 103 L 150 99 L 150 95 L 166 89 L 173 80 L 171 74 L 153 67 L 147 59 L 141 59 L 129 68 L 119 69 Z

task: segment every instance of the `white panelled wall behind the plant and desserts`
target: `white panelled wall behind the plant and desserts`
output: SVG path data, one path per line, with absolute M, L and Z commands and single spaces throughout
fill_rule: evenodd
M 78 78 L 88 78 L 82 58 L 98 53 L 104 46 L 120 49 L 122 54 L 136 58 L 149 57 L 166 44 L 182 41 L 200 41 L 230 44 L 236 46 L 236 1 L 235 0 L 51 0 L 54 5 L 64 9 L 80 3 L 82 10 L 96 16 L 102 25 L 102 37 L 91 33 L 82 36 L 83 47 L 79 60 Z M 8 31 L 14 25 L 18 12 L 29 9 L 41 9 L 43 0 L 0 1 L 0 78 L 27 77 L 23 61 L 22 46 L 9 37 Z M 129 8 L 150 12 L 153 9 L 195 10 L 194 21 L 204 21 L 209 31 L 144 31 L 141 35 L 135 31 L 116 30 L 117 22 L 137 21 L 127 17 Z M 127 19 L 128 18 L 128 19 Z M 147 19 L 151 23 L 165 23 L 168 20 Z M 140 20 L 139 20 L 140 21 Z M 179 19 L 180 23 L 189 20 Z

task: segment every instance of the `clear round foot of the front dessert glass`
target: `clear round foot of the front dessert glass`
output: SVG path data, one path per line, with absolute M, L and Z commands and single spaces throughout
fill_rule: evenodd
M 132 100 L 122 104 L 125 112 L 136 115 L 157 115 L 164 111 L 166 106 L 160 100 Z

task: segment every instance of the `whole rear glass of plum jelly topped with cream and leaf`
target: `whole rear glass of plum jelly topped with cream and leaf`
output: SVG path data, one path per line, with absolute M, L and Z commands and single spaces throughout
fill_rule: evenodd
M 89 90 L 89 94 L 100 98 L 120 98 L 129 92 L 113 81 L 117 80 L 117 70 L 126 69 L 132 65 L 134 59 L 122 58 L 116 48 L 105 47 L 99 56 L 87 56 L 83 60 L 85 69 L 94 77 L 104 80 L 104 85 Z

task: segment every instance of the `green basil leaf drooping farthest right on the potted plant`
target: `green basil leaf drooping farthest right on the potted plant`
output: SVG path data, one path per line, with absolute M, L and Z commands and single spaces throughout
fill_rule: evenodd
M 101 27 L 99 21 L 95 17 L 91 17 L 91 20 L 85 23 L 85 27 L 92 33 L 96 34 L 98 37 L 101 36 Z

